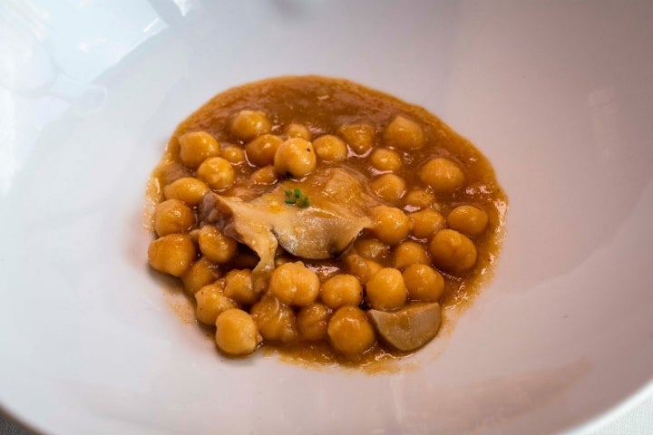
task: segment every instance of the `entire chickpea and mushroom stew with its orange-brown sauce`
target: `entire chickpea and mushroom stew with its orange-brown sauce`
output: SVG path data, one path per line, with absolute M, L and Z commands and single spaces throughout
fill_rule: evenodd
M 220 352 L 356 365 L 437 336 L 491 275 L 507 208 L 490 162 L 432 114 L 317 76 L 213 97 L 149 191 L 150 265 Z

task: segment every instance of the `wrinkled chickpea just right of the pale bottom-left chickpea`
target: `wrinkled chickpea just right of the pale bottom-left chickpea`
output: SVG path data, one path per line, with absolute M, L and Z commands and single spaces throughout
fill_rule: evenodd
M 274 296 L 265 295 L 249 311 L 264 340 L 288 343 L 297 338 L 295 313 Z

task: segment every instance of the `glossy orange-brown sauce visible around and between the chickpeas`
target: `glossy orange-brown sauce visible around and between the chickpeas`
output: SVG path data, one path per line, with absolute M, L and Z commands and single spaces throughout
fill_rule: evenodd
M 424 208 L 433 209 L 443 218 L 449 217 L 451 211 L 459 206 L 472 206 L 482 210 L 487 216 L 487 224 L 480 235 L 471 237 L 478 253 L 473 267 L 460 272 L 435 263 L 430 266 L 433 266 L 444 278 L 444 291 L 439 298 L 443 308 L 452 306 L 463 308 L 473 300 L 482 284 L 490 279 L 492 268 L 498 260 L 507 211 L 507 198 L 495 178 L 490 162 L 472 143 L 453 132 L 443 121 L 424 109 L 344 80 L 317 76 L 282 77 L 240 86 L 215 96 L 174 131 L 163 159 L 152 174 L 149 184 L 151 209 L 165 199 L 163 194 L 165 186 L 175 179 L 197 176 L 196 170 L 187 168 L 180 161 L 179 138 L 188 132 L 205 131 L 219 142 L 222 155 L 225 155 L 225 150 L 229 150 L 230 147 L 245 150 L 250 140 L 243 140 L 233 134 L 230 125 L 239 111 L 247 110 L 264 112 L 271 123 L 269 133 L 277 135 L 282 140 L 288 139 L 289 131 L 286 129 L 291 124 L 306 127 L 310 133 L 310 140 L 314 143 L 317 138 L 327 134 L 340 135 L 342 138 L 342 128 L 346 125 L 371 126 L 374 134 L 373 146 L 369 150 L 356 149 L 346 140 L 346 160 L 327 162 L 317 159 L 316 170 L 345 168 L 359 174 L 361 179 L 365 179 L 366 195 L 374 198 L 379 205 L 402 209 L 406 215 Z M 404 150 L 387 143 L 384 132 L 397 116 L 412 120 L 421 126 L 424 131 L 424 146 Z M 379 165 L 373 164 L 375 160 L 372 154 L 381 148 L 395 151 L 401 158 L 401 167 L 392 170 L 375 168 Z M 421 178 L 420 175 L 421 169 L 426 162 L 435 158 L 449 160 L 462 169 L 463 185 L 449 191 L 432 189 L 425 185 L 424 177 Z M 229 188 L 218 192 L 220 196 L 243 198 L 249 201 L 272 191 L 284 179 L 293 179 L 290 173 L 277 173 L 274 183 L 253 183 L 252 176 L 260 168 L 253 164 L 247 155 L 244 161 L 232 163 L 232 167 L 235 180 Z M 378 189 L 374 189 L 375 179 L 387 173 L 404 180 L 404 190 L 396 195 L 399 198 L 388 200 L 387 197 L 383 198 L 383 195 L 379 195 Z M 415 205 L 414 201 L 407 199 L 410 191 L 414 189 L 426 192 L 433 201 L 429 201 L 427 207 Z M 197 207 L 193 210 L 197 213 Z M 197 231 L 203 225 L 205 223 L 201 222 L 201 218 L 196 218 L 194 227 L 190 228 L 191 237 L 193 231 Z M 405 241 L 414 241 L 424 247 L 424 251 L 429 252 L 429 242 L 432 238 L 433 235 L 416 237 L 411 233 Z M 278 263 L 302 261 L 307 268 L 317 274 L 321 284 L 324 284 L 328 278 L 350 271 L 346 256 L 359 254 L 357 247 L 363 247 L 367 240 L 378 242 L 373 228 L 365 228 L 356 238 L 356 242 L 336 258 L 297 258 L 279 249 L 277 256 L 283 261 Z M 388 246 L 385 251 L 375 256 L 375 262 L 383 267 L 394 266 L 396 246 L 397 244 Z M 239 255 L 236 258 L 228 263 L 210 267 L 215 273 L 214 276 L 219 278 L 227 274 L 230 269 L 243 267 L 251 269 L 256 266 L 257 260 L 258 256 L 251 249 L 239 244 Z M 365 279 L 362 280 L 362 285 L 365 288 Z M 192 297 L 190 299 L 194 300 Z M 318 296 L 317 302 L 320 300 L 321 296 Z M 365 310 L 369 308 L 365 298 L 360 306 Z M 245 304 L 241 307 L 247 310 L 251 305 Z M 292 307 L 292 310 L 297 314 L 298 307 Z M 302 340 L 300 335 L 298 334 L 296 340 L 288 343 L 265 341 L 262 346 L 287 355 L 297 362 L 341 363 L 357 366 L 374 365 L 375 362 L 388 361 L 406 354 L 392 349 L 377 337 L 373 348 L 362 355 L 352 357 L 352 355 L 335 352 L 326 339 L 313 342 Z M 437 340 L 437 337 L 435 339 Z

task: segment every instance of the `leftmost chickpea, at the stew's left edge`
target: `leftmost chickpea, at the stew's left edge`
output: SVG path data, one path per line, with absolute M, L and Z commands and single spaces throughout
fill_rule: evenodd
M 195 245 L 190 237 L 171 234 L 153 240 L 148 248 L 150 266 L 164 274 L 181 276 L 195 260 Z

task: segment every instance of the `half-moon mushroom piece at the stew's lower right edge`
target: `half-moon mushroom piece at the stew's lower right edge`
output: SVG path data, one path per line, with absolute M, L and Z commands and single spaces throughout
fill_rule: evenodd
M 414 303 L 397 311 L 367 312 L 376 332 L 400 351 L 414 351 L 430 342 L 441 324 L 440 304 Z

